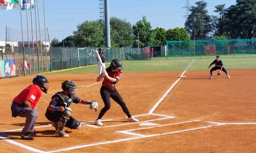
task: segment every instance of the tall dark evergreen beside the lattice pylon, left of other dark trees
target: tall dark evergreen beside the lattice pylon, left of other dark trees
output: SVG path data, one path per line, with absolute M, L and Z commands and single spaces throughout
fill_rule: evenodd
M 196 39 L 207 39 L 212 31 L 211 16 L 207 14 L 206 10 L 207 3 L 198 1 L 196 5 L 189 9 L 191 14 L 185 22 L 185 29 L 191 39 L 194 39 L 194 30 L 196 30 Z

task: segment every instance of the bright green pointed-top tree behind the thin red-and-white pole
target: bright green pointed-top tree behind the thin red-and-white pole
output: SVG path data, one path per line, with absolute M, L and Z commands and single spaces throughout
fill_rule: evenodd
M 150 22 L 147 22 L 146 17 L 143 16 L 142 20 L 139 20 L 135 25 L 132 26 L 133 29 L 133 47 L 138 47 L 138 31 L 139 31 L 139 46 L 145 47 L 148 45 L 154 45 L 154 31 L 152 30 Z

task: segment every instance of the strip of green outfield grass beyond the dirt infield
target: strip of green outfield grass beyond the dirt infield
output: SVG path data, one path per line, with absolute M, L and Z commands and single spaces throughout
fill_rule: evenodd
M 122 61 L 123 72 L 152 72 L 152 71 L 184 71 L 193 59 L 181 60 L 149 60 L 149 61 Z M 196 58 L 188 70 L 208 70 L 213 58 Z M 253 69 L 256 68 L 256 58 L 221 58 L 225 69 Z M 109 67 L 109 63 L 106 63 Z M 211 66 L 213 67 L 213 65 Z M 74 68 L 64 71 L 46 72 L 42 74 L 78 74 L 98 73 L 98 65 Z

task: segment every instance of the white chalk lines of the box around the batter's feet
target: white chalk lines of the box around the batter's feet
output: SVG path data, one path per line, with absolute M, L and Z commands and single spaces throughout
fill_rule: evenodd
M 145 123 L 145 122 L 152 122 L 152 121 L 166 120 L 166 119 L 170 119 L 170 118 L 175 118 L 174 116 L 167 116 L 167 115 L 154 114 L 154 113 L 134 115 L 133 117 L 146 116 L 146 115 L 161 116 L 163 118 L 153 119 L 153 120 L 146 120 L 146 121 L 141 121 L 141 122 L 130 122 L 130 123 L 124 123 L 124 124 L 108 125 L 108 126 L 97 126 L 97 125 L 92 125 L 92 124 L 86 124 L 86 122 L 81 122 L 81 124 L 86 125 L 86 126 L 90 126 L 90 127 L 93 127 L 93 128 L 110 128 L 110 127 L 115 127 L 115 126 L 123 126 L 123 125 L 138 124 L 138 123 Z M 109 120 L 113 120 L 113 119 L 109 119 Z M 104 121 L 106 121 L 106 120 L 102 120 L 102 122 L 104 122 Z M 88 121 L 88 122 L 94 122 L 94 121 Z

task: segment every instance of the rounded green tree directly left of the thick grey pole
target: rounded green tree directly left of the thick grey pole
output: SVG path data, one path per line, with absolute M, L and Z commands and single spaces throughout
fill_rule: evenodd
M 77 26 L 73 32 L 76 37 L 77 47 L 104 47 L 104 25 L 100 20 L 85 21 Z

